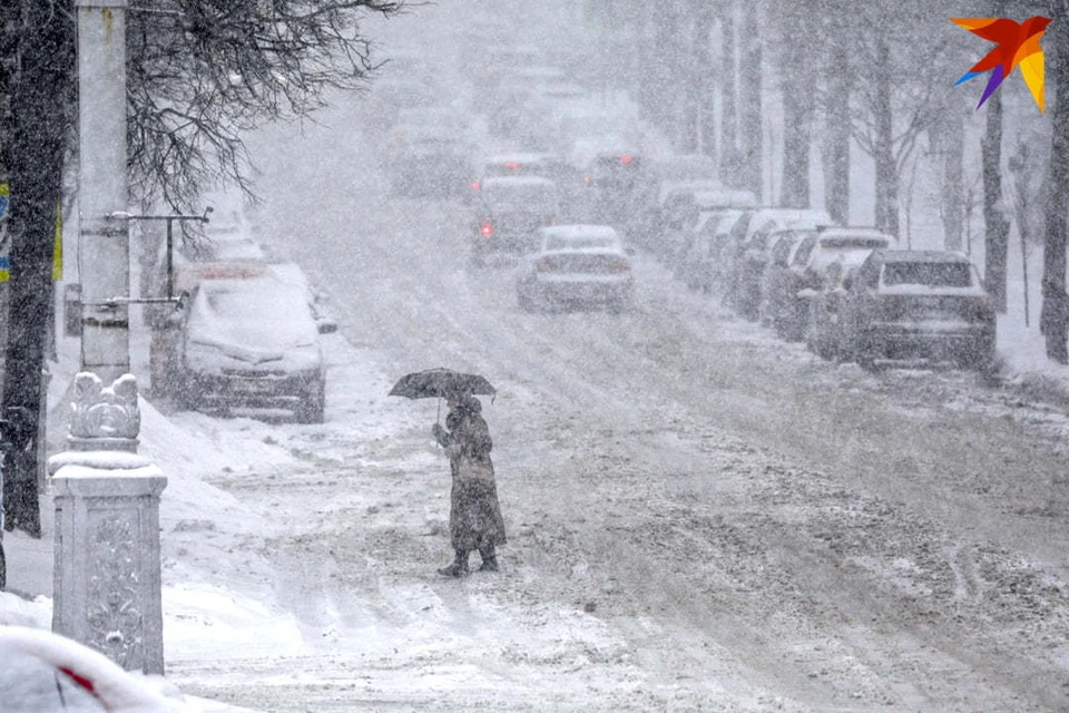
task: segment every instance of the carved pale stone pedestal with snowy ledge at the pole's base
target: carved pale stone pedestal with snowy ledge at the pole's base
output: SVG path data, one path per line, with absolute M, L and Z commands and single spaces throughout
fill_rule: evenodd
M 136 452 L 137 382 L 75 378 L 70 449 L 49 459 L 56 496 L 52 631 L 126 670 L 164 672 L 159 495 L 167 478 Z

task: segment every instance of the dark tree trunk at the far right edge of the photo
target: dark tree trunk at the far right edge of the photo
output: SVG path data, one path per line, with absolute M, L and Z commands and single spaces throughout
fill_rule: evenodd
M 1049 41 L 1048 87 L 1057 87 L 1051 110 L 1051 149 L 1047 180 L 1046 231 L 1043 242 L 1043 304 L 1039 314 L 1040 330 L 1047 342 L 1047 358 L 1069 363 L 1066 348 L 1069 334 L 1069 297 L 1066 295 L 1066 217 L 1069 212 L 1069 27 L 1051 22 Z M 996 92 L 998 95 L 998 92 Z M 1049 96 L 1049 94 L 1048 94 Z M 994 98 L 994 95 L 991 99 Z M 990 102 L 991 99 L 988 99 Z M 1049 106 L 1049 101 L 1048 101 Z

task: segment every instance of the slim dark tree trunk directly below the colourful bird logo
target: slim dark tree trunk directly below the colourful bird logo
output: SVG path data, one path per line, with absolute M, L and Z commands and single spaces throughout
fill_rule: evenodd
M 983 163 L 983 282 L 996 309 L 1006 313 L 1006 260 L 1010 223 L 1002 212 L 1002 97 L 996 91 L 984 104 L 987 127 L 981 141 Z

